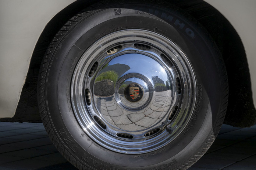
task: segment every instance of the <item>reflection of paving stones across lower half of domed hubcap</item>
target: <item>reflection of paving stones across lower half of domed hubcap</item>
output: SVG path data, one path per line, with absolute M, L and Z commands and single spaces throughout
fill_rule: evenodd
M 153 100 L 151 100 L 146 108 L 140 111 L 124 110 L 116 103 L 113 96 L 98 98 L 97 108 L 102 114 L 102 117 L 106 121 L 111 118 L 112 121 L 108 122 L 111 124 L 113 122 L 113 125 L 116 127 L 127 131 L 141 130 L 143 129 L 142 127 L 150 127 L 165 117 L 165 114 L 171 105 L 171 93 L 171 90 L 154 92 Z M 149 95 L 149 93 L 147 92 L 144 95 Z M 98 103 L 100 103 L 100 105 Z M 137 107 L 139 105 L 137 102 L 131 103 L 128 101 L 125 104 L 127 104 L 127 106 L 130 105 L 131 107 Z

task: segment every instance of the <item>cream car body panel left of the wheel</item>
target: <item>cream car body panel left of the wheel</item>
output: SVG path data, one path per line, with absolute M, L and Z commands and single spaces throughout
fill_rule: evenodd
M 13 117 L 45 25 L 75 0 L 0 1 L 0 118 Z

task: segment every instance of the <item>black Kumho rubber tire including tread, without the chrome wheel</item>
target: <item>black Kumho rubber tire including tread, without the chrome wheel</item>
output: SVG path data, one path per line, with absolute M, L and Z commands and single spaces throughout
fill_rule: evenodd
M 84 51 L 102 36 L 130 28 L 158 32 L 175 42 L 197 80 L 197 103 L 183 133 L 161 149 L 138 155 L 117 153 L 92 141 L 76 121 L 69 91 Z M 71 18 L 56 34 L 41 64 L 37 94 L 49 137 L 77 168 L 182 170 L 201 158 L 217 136 L 226 113 L 228 80 L 212 38 L 180 9 L 166 2 L 100 2 Z

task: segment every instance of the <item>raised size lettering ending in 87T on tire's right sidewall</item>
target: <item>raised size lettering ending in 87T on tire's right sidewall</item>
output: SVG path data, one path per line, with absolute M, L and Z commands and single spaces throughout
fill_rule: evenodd
M 201 107 L 201 103 L 202 100 L 204 98 L 202 97 L 202 85 L 199 84 L 197 85 L 197 101 L 196 101 L 196 107 L 194 108 L 194 113 L 192 115 L 192 120 L 193 122 L 195 122 L 197 120 L 197 116 Z M 193 124 L 190 123 L 187 128 L 183 131 L 184 135 L 186 136 L 186 134 L 190 131 L 190 129 L 192 128 Z

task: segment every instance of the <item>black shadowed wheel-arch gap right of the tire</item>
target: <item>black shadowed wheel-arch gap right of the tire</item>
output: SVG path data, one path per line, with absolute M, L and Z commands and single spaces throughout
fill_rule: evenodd
M 201 0 L 190 1 L 189 4 L 184 2 L 176 1 L 176 5 L 192 15 L 207 29 L 219 47 L 226 65 L 229 101 L 224 123 L 237 127 L 254 125 L 256 110 L 251 86 L 251 70 L 249 70 L 249 59 L 240 35 L 231 22 L 207 2 Z M 216 4 L 218 2 L 215 2 Z

